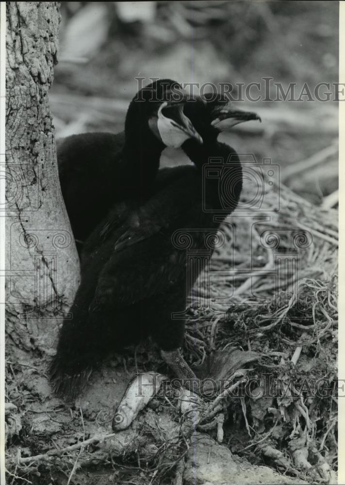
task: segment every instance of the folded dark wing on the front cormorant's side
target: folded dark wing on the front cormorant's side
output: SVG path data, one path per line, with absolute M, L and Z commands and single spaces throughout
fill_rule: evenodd
M 90 310 L 126 307 L 167 292 L 177 283 L 181 290 L 185 288 L 186 252 L 171 240 L 190 204 L 188 197 L 180 196 L 180 186 L 181 180 L 174 180 L 111 235 L 113 247 L 99 273 Z

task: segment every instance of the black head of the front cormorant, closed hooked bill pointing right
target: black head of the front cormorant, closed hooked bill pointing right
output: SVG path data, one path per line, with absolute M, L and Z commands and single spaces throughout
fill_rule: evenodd
M 256 113 L 235 109 L 228 99 L 214 94 L 190 98 L 185 104 L 184 113 L 204 142 L 216 140 L 221 131 L 229 130 L 244 121 L 261 121 Z

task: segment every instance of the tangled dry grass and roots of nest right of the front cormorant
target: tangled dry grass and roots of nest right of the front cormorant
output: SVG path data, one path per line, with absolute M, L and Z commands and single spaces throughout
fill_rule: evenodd
M 337 211 L 281 186 L 272 212 L 277 190 L 255 217 L 234 213 L 222 226 L 210 298 L 204 276 L 190 296 L 186 353 L 195 364 L 229 346 L 260 353 L 248 372 L 256 394 L 228 402 L 225 440 L 253 463 L 328 483 L 337 468 Z

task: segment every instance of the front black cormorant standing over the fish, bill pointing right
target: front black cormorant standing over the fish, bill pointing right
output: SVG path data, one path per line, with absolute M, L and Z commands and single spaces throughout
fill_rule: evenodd
M 188 291 L 203 267 L 196 258 L 187 268 L 178 235 L 192 234 L 189 250 L 196 256 L 212 246 L 207 234 L 216 234 L 242 189 L 239 158 L 217 141 L 218 127 L 259 117 L 234 111 L 219 99 L 190 100 L 184 110 L 204 141 L 190 139 L 182 146 L 194 165 L 160 170 L 148 201 L 136 208 L 116 205 L 87 242 L 73 318 L 63 322 L 50 365 L 52 387 L 66 399 L 78 394 L 106 354 L 147 336 L 177 377 L 195 379 L 179 352 L 184 319 L 172 316 L 185 311 Z M 218 160 L 218 176 L 205 177 L 210 159 Z

